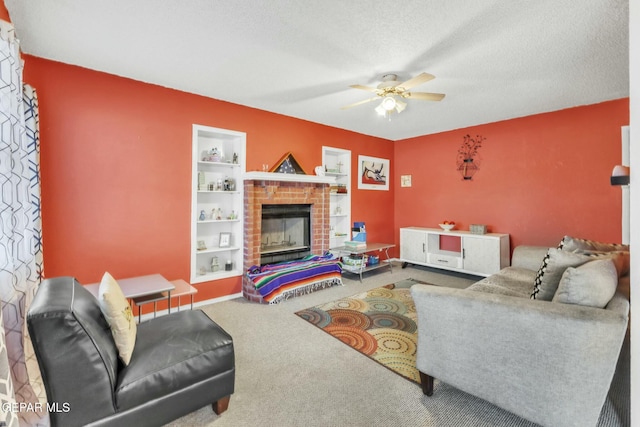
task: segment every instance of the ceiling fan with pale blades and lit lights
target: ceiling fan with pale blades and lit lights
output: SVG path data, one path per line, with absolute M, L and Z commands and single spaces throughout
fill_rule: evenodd
M 376 107 L 376 112 L 380 115 L 389 115 L 393 111 L 400 113 L 407 108 L 407 103 L 402 101 L 402 98 L 419 99 L 423 101 L 441 101 L 442 98 L 445 97 L 443 93 L 409 92 L 409 89 L 435 78 L 436 77 L 432 74 L 420 73 L 417 76 L 400 83 L 396 74 L 385 74 L 382 76 L 382 82 L 376 87 L 351 85 L 349 87 L 373 92 L 376 96 L 353 104 L 345 105 L 342 109 L 346 110 L 347 108 L 356 107 L 361 104 L 366 104 L 367 102 L 382 99 L 380 105 Z

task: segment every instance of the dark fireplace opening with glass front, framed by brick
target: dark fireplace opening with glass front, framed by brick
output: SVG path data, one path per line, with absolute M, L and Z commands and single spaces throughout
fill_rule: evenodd
M 260 265 L 311 254 L 311 205 L 262 205 Z

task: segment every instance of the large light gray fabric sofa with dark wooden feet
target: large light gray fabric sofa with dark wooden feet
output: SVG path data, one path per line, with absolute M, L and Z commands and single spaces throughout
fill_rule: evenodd
M 544 426 L 597 424 L 627 331 L 628 277 L 604 308 L 531 299 L 548 251 L 519 246 L 510 267 L 467 289 L 411 288 L 425 394 L 437 378 Z

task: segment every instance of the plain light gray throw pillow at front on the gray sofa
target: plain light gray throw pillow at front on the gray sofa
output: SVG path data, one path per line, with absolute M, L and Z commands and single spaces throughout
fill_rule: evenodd
M 618 273 L 612 260 L 590 261 L 565 270 L 552 301 L 604 308 L 617 286 Z

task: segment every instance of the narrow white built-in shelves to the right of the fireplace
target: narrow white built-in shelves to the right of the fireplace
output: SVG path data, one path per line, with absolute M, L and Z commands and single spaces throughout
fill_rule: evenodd
M 322 166 L 336 180 L 330 187 L 329 248 L 337 248 L 351 240 L 351 151 L 322 147 Z

